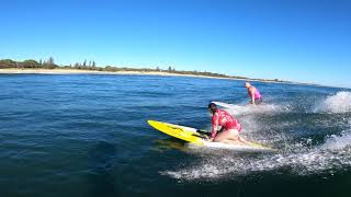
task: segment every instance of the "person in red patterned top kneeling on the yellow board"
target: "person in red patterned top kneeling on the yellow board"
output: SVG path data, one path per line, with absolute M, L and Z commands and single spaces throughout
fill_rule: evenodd
M 224 143 L 246 143 L 240 137 L 241 125 L 224 109 L 217 108 L 216 104 L 210 103 L 208 111 L 212 114 L 212 132 L 208 141 Z

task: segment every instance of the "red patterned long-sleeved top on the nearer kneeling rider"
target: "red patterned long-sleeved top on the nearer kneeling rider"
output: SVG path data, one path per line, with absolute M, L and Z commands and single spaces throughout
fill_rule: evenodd
M 225 130 L 237 129 L 238 131 L 241 131 L 241 125 L 238 119 L 226 111 L 217 108 L 216 113 L 212 116 L 211 138 L 216 137 L 217 131 L 220 128 L 224 128 Z

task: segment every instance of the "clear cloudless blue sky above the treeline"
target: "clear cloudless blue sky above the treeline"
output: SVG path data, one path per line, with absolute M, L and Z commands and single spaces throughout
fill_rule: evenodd
M 350 0 L 1 0 L 0 59 L 351 88 Z

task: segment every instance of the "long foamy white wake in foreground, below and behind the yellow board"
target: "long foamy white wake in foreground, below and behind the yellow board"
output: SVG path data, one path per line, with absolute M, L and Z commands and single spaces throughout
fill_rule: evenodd
M 295 151 L 261 157 L 240 157 L 228 151 L 212 151 L 212 154 L 204 151 L 204 154 L 201 154 L 200 150 L 195 150 L 197 155 L 202 155 L 200 161 L 161 174 L 180 181 L 192 181 L 235 178 L 257 172 L 280 173 L 280 170 L 288 170 L 301 176 L 318 173 L 332 175 L 337 171 L 351 167 L 350 130 L 339 137 L 331 136 L 324 144 L 312 149 L 301 147 L 301 143 L 291 146 L 296 147 Z

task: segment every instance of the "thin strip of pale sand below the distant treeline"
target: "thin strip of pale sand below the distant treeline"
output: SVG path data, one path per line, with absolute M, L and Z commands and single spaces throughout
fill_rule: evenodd
M 211 77 L 211 76 L 195 76 L 195 74 L 182 74 L 182 73 L 171 73 L 166 71 L 98 71 L 98 70 L 82 70 L 82 69 L 18 69 L 18 68 L 5 68 L 0 69 L 0 74 L 136 74 L 136 76 L 165 76 L 165 77 L 192 77 L 192 78 L 207 78 L 207 79 L 226 79 L 226 80 L 241 80 L 241 81 L 259 81 L 264 83 L 288 83 L 288 84 L 305 84 L 305 85 L 318 85 L 312 83 L 301 83 L 291 81 L 275 81 L 275 80 L 258 80 L 258 79 L 242 79 L 236 77 Z

